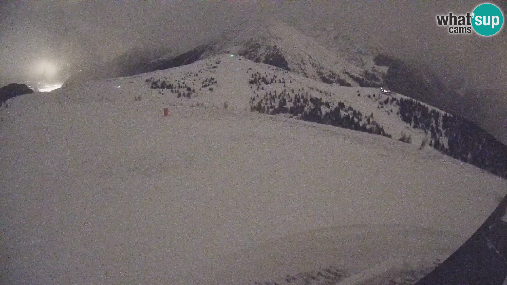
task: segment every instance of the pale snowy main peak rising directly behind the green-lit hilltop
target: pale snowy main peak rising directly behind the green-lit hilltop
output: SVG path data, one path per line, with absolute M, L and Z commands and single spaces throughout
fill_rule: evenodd
M 274 65 L 307 78 L 345 86 L 379 86 L 386 72 L 372 55 L 353 57 L 330 51 L 281 21 L 247 22 L 224 32 L 199 59 L 225 52 Z M 354 53 L 354 55 L 357 55 Z

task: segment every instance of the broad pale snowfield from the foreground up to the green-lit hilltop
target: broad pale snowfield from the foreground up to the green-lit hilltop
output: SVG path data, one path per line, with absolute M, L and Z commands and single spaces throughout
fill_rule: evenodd
M 250 88 L 256 72 L 373 113 L 393 137 L 249 112 L 274 88 Z M 195 92 L 177 98 L 150 78 Z M 415 282 L 484 222 L 507 182 L 420 150 L 424 133 L 367 97 L 379 92 L 223 54 L 10 99 L 1 283 Z

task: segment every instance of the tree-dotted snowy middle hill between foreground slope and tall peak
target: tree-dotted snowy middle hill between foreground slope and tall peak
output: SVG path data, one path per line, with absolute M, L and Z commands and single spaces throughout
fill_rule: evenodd
M 223 104 L 216 100 L 231 100 L 229 104 L 238 109 L 410 140 L 507 177 L 507 159 L 503 159 L 507 147 L 473 123 L 402 94 L 385 93 L 381 88 L 325 84 L 232 55 L 144 76 L 148 86 L 164 89 L 161 92 L 170 93 L 172 99 L 215 105 Z M 207 95 L 229 92 L 243 95 L 229 99 Z

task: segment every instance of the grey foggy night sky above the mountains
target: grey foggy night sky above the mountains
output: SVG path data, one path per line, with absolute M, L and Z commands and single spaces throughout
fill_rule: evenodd
M 332 26 L 368 47 L 381 46 L 402 58 L 424 61 L 450 85 L 501 92 L 483 94 L 480 112 L 503 120 L 496 122 L 494 131 L 507 141 L 507 111 L 502 111 L 507 110 L 507 30 L 503 27 L 489 38 L 451 35 L 435 20 L 437 14 L 472 12 L 482 1 L 2 3 L 0 85 L 24 81 L 37 58 L 90 64 L 112 59 L 139 43 L 184 51 L 218 37 L 238 21 L 276 17 L 307 34 Z M 503 2 L 490 3 L 507 11 Z M 498 104 L 503 108 L 490 110 Z

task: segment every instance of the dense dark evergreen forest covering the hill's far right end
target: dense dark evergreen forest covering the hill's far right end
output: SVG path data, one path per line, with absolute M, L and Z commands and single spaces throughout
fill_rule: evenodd
M 431 134 L 431 147 L 507 179 L 507 146 L 479 126 L 457 116 L 441 116 L 413 99 L 401 98 L 397 103 L 404 122 Z M 448 147 L 443 144 L 444 137 Z

